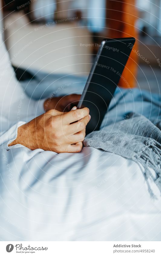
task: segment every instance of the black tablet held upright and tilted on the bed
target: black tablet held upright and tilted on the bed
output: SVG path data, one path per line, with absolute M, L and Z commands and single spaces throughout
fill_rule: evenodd
M 134 37 L 104 39 L 101 42 L 77 106 L 78 109 L 88 107 L 90 111 L 86 135 L 99 130 L 119 80 L 126 80 L 122 72 L 134 43 Z

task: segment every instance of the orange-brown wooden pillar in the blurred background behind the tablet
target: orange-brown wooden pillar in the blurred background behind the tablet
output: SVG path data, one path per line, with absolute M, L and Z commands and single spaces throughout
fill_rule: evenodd
M 138 11 L 135 7 L 135 0 L 107 0 L 107 27 L 108 37 L 135 37 L 136 42 L 133 49 L 137 50 L 138 33 L 135 24 Z M 137 76 L 137 54 L 132 51 L 123 71 L 123 77 L 127 80 L 130 87 L 136 86 Z M 127 87 L 123 79 L 119 81 L 119 86 Z

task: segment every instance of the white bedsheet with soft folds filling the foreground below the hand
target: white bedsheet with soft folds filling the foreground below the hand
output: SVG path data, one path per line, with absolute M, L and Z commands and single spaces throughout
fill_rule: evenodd
M 132 160 L 92 147 L 75 154 L 22 147 L 0 150 L 0 163 L 1 240 L 161 239 L 159 196 L 150 198 Z

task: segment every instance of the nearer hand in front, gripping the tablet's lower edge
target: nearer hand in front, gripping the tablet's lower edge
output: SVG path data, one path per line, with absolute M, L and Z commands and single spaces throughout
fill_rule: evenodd
M 56 153 L 82 150 L 89 109 L 59 112 L 51 109 L 18 128 L 18 136 L 9 146 L 21 144 L 31 150 L 41 148 Z

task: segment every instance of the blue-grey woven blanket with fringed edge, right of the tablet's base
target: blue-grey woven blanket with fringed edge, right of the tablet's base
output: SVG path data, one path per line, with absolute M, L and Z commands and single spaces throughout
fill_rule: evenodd
M 133 92 L 135 98 L 131 102 L 126 101 L 129 92 L 121 99 L 118 99 L 120 93 L 115 94 L 115 103 L 111 103 L 100 131 L 87 135 L 84 145 L 115 153 L 141 164 L 150 195 L 155 197 L 149 178 L 153 179 L 161 192 L 160 98 L 146 91 L 140 93 L 138 89 L 134 90 L 137 91 Z M 144 101 L 140 99 L 141 96 Z M 149 167 L 155 171 L 155 175 Z

